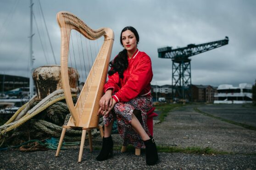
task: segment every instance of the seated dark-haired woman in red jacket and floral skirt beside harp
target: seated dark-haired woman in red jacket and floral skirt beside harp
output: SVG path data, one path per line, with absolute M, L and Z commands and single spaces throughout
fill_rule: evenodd
M 98 114 L 103 115 L 105 131 L 102 149 L 96 159 L 106 160 L 112 156 L 111 129 L 114 118 L 117 118 L 123 146 L 133 144 L 136 148 L 146 148 L 146 163 L 155 165 L 158 160 L 156 144 L 146 125 L 146 112 L 152 107 L 151 60 L 137 49 L 139 34 L 134 27 L 123 28 L 120 42 L 124 49 L 109 64 L 105 95 L 100 99 Z

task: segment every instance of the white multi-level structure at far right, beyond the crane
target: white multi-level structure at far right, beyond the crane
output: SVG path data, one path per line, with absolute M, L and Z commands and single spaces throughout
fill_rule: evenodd
M 219 85 L 218 93 L 214 95 L 214 103 L 242 104 L 252 103 L 252 85 L 247 83 L 233 85 Z

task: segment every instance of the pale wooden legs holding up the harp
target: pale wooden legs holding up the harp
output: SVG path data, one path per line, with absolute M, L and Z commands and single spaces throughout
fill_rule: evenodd
M 56 151 L 56 157 L 59 156 L 60 150 L 61 150 L 61 145 L 62 145 L 62 141 L 64 139 L 65 133 L 67 129 L 70 128 L 75 128 L 75 127 L 71 127 L 71 126 L 62 126 L 62 132 L 61 132 L 61 138 L 58 144 L 58 148 Z M 103 128 L 102 126 L 96 127 L 100 129 L 100 135 L 101 138 L 103 138 Z M 80 144 L 80 150 L 79 150 L 79 155 L 78 155 L 78 162 L 81 162 L 82 160 L 82 155 L 83 155 L 83 145 L 84 145 L 84 141 L 85 141 L 85 136 L 86 136 L 86 131 L 88 131 L 88 138 L 89 138 L 89 148 L 90 148 L 90 152 L 92 152 L 93 148 L 92 148 L 92 133 L 91 130 L 93 128 L 82 128 L 82 137 L 81 137 L 81 144 Z

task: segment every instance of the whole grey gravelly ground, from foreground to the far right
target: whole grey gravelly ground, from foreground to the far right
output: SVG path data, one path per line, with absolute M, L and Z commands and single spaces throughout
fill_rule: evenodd
M 256 169 L 256 131 L 248 130 L 227 122 L 204 116 L 194 111 L 194 107 L 211 114 L 233 112 L 233 107 L 239 120 L 239 114 L 245 115 L 246 108 L 242 105 L 188 105 L 169 113 L 166 120 L 154 127 L 154 136 L 157 145 L 179 147 L 211 147 L 218 151 L 232 152 L 232 154 L 202 155 L 182 153 L 159 153 L 160 161 L 157 165 L 145 164 L 145 151 L 140 156 L 134 151 L 121 153 L 114 151 L 111 159 L 96 161 L 95 157 L 100 150 L 89 153 L 86 140 L 82 162 L 78 163 L 79 147 L 70 147 L 61 150 L 59 157 L 55 157 L 55 150 L 21 153 L 18 150 L 0 152 L 0 170 L 30 170 L 30 169 L 222 169 L 222 170 L 255 170 Z M 227 109 L 225 109 L 227 108 Z M 256 117 L 252 109 L 251 119 Z M 218 112 L 214 112 L 214 110 Z M 227 115 L 227 114 L 226 114 Z M 226 116 L 225 118 L 232 118 Z M 247 123 L 244 118 L 243 123 Z M 255 122 L 255 121 L 254 121 Z M 250 124 L 252 125 L 252 124 Z M 119 135 L 113 134 L 114 146 L 120 146 L 122 140 Z M 94 148 L 100 147 L 101 139 L 93 139 Z

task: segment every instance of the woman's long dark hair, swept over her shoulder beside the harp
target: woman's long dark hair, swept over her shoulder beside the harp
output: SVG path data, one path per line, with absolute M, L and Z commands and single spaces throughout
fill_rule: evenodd
M 127 30 L 130 30 L 131 32 L 134 33 L 136 40 L 137 40 L 137 44 L 138 44 L 139 43 L 139 34 L 138 34 L 137 30 L 134 27 L 128 26 L 128 27 L 124 27 L 122 29 L 122 32 L 125 32 Z M 122 44 L 122 32 L 120 35 L 120 43 L 121 44 Z M 123 78 L 123 72 L 128 67 L 127 50 L 123 49 L 121 52 L 119 52 L 117 57 L 109 63 L 109 66 L 111 67 L 111 69 L 108 71 L 109 75 L 112 75 L 112 74 L 118 72 L 119 77 Z

